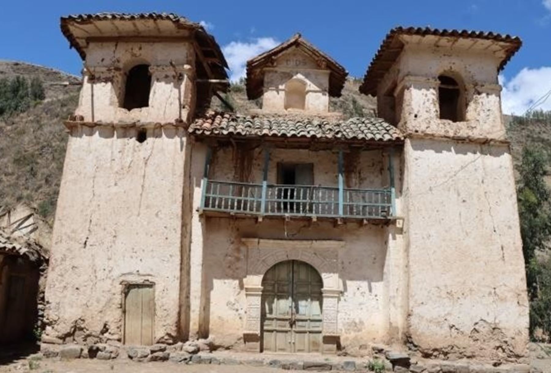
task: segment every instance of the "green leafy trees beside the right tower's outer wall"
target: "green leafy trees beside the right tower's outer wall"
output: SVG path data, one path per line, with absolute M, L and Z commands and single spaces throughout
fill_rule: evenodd
M 539 149 L 522 150 L 518 196 L 518 214 L 522 235 L 522 251 L 526 266 L 526 285 L 530 298 L 530 333 L 541 328 L 551 336 L 551 261 L 538 261 L 538 252 L 547 251 L 551 237 L 550 197 L 544 176 L 546 155 Z

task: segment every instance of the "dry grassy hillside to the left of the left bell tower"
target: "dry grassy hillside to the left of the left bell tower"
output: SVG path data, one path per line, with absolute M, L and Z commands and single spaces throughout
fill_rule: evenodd
M 0 207 L 20 202 L 52 223 L 67 144 L 62 121 L 78 102 L 79 78 L 53 69 L 0 61 L 0 78 L 39 77 L 45 99 L 18 115 L 0 117 Z

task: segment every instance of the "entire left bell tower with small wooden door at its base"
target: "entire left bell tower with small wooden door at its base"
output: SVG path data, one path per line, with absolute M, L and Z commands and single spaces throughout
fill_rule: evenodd
M 61 30 L 84 76 L 65 122 L 45 336 L 67 338 L 78 324 L 79 338 L 170 343 L 186 322 L 187 127 L 229 86 L 226 61 L 213 36 L 176 14 L 71 15 Z

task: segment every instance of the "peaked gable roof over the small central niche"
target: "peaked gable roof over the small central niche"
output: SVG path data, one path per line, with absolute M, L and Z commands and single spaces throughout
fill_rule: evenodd
M 329 71 L 329 95 L 333 97 L 341 96 L 344 82 L 348 72 L 333 58 L 323 53 L 314 45 L 310 44 L 300 33 L 290 37 L 277 47 L 262 53 L 247 61 L 247 98 L 254 100 L 263 93 L 264 85 L 264 67 L 272 66 L 273 61 L 289 48 L 300 48 L 307 55 L 311 56 L 320 66 L 326 67 Z

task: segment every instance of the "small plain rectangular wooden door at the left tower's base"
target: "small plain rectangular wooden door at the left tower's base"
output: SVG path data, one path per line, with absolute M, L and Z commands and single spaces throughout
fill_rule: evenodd
M 125 344 L 153 344 L 153 285 L 128 285 L 125 294 Z

